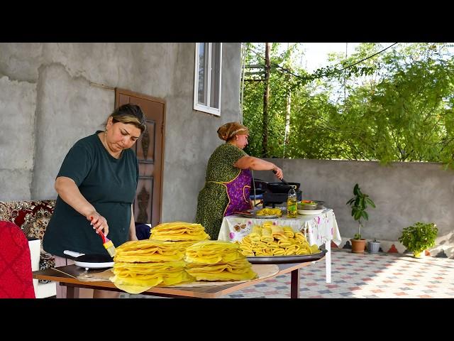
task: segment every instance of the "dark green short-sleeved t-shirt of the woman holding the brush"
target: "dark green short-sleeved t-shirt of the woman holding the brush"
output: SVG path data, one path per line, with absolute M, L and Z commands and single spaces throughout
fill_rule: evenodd
M 80 139 L 65 156 L 57 177 L 72 178 L 80 193 L 106 218 L 107 237 L 116 247 L 128 241 L 131 205 L 138 183 L 138 161 L 126 149 L 120 158 L 106 151 L 95 134 Z M 102 239 L 86 217 L 57 197 L 54 213 L 43 238 L 43 249 L 66 257 L 64 250 L 84 254 L 108 254 Z

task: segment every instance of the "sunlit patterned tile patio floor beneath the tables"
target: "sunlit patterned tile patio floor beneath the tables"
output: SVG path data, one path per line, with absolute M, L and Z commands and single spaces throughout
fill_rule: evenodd
M 301 269 L 300 298 L 454 298 L 454 259 L 335 249 L 331 261 L 331 283 L 325 281 L 324 261 Z M 222 298 L 289 298 L 289 286 L 286 274 Z

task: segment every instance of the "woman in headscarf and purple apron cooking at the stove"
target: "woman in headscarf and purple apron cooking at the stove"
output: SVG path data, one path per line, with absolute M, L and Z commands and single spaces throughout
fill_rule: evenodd
M 218 129 L 218 136 L 226 143 L 218 146 L 209 158 L 196 214 L 196 223 L 201 224 L 213 240 L 218 239 L 223 217 L 252 207 L 249 200 L 251 169 L 275 171 L 279 179 L 284 176 L 282 169 L 274 163 L 248 156 L 243 151 L 249 137 L 249 130 L 243 124 L 223 124 Z

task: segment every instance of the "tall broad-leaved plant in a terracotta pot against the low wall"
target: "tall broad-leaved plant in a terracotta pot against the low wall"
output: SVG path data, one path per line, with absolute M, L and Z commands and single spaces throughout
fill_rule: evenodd
M 361 192 L 358 183 L 353 188 L 353 195 L 348 200 L 347 205 L 352 207 L 353 219 L 358 220 L 358 233 L 355 233 L 355 237 L 350 239 L 350 241 L 352 242 L 352 252 L 362 253 L 366 243 L 366 240 L 361 238 L 362 220 L 369 220 L 369 215 L 366 212 L 367 205 L 375 207 L 375 203 L 370 199 L 369 195 Z

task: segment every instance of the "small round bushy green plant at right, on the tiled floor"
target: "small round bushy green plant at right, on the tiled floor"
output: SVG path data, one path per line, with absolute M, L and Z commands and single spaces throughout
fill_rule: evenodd
M 398 240 L 407 250 L 413 252 L 416 258 L 421 258 L 423 251 L 435 245 L 437 233 L 438 229 L 435 223 L 416 222 L 414 225 L 405 227 Z

